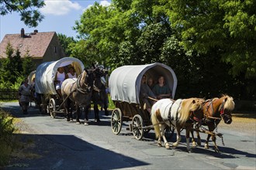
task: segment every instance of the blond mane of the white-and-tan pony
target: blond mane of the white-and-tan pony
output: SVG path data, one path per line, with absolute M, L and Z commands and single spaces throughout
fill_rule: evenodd
M 182 100 L 181 110 L 180 110 L 180 123 L 185 123 L 188 121 L 191 111 L 199 110 L 202 107 L 202 99 L 199 98 L 189 98 Z M 195 102 L 195 103 L 194 103 Z

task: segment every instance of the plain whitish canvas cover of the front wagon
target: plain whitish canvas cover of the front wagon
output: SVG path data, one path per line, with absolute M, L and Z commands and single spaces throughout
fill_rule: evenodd
M 177 77 L 170 66 L 162 63 L 146 65 L 120 66 L 109 76 L 109 91 L 112 100 L 140 104 L 140 82 L 143 75 L 151 77 L 157 82 L 159 76 L 164 76 L 166 84 L 171 89 L 172 98 L 175 97 Z

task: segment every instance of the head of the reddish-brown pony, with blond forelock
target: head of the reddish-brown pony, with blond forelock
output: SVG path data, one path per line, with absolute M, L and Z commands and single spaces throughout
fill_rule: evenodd
M 234 110 L 235 104 L 233 97 L 229 97 L 227 95 L 224 95 L 220 98 L 222 100 L 222 103 L 219 107 L 220 116 L 223 118 L 223 121 L 225 124 L 231 124 L 232 123 L 232 111 Z

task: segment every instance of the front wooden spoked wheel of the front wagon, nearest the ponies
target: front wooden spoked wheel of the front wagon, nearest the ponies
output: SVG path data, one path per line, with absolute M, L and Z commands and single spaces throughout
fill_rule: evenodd
M 144 135 L 144 122 L 142 121 L 142 117 L 140 116 L 140 114 L 136 114 L 133 117 L 133 121 L 132 121 L 132 131 L 133 131 L 133 136 L 137 139 L 137 140 L 141 140 L 143 138 Z

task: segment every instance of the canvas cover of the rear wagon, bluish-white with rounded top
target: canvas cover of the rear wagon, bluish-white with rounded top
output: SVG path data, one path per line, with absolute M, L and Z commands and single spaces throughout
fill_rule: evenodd
M 41 63 L 36 68 L 36 93 L 57 94 L 54 86 L 54 78 L 57 73 L 57 68 L 61 66 L 74 66 L 77 75 L 81 74 L 85 69 L 81 60 L 74 57 L 64 57 L 57 61 Z

